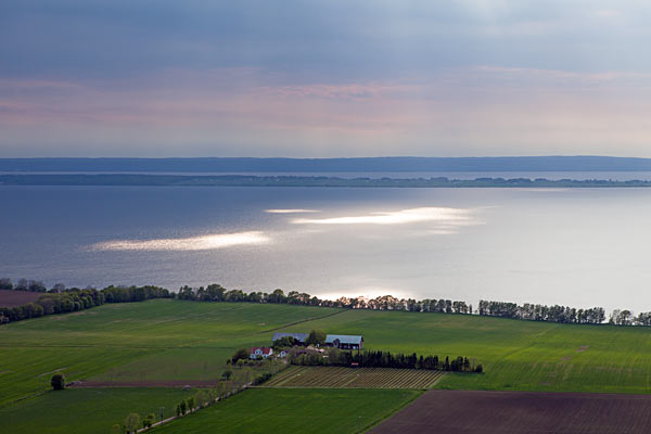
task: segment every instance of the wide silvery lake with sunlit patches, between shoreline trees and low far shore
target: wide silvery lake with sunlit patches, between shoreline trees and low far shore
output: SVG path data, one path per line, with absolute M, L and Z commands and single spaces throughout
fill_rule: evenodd
M 0 188 L 0 276 L 651 310 L 651 189 Z

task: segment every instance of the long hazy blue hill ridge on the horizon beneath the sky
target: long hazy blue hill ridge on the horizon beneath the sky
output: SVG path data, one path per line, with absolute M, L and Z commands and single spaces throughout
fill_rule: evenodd
M 0 158 L 0 171 L 646 171 L 651 158 L 611 156 L 361 158 Z

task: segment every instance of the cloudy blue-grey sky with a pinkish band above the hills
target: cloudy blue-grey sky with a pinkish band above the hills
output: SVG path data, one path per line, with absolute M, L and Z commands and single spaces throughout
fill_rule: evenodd
M 651 3 L 2 0 L 0 157 L 651 157 Z

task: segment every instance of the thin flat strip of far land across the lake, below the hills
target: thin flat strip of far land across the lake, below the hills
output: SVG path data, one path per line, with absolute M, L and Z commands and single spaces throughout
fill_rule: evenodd
M 326 176 L 251 175 L 0 175 L 2 186 L 141 186 L 141 187 L 352 187 L 352 188 L 646 188 L 651 180 L 546 178 L 336 178 Z

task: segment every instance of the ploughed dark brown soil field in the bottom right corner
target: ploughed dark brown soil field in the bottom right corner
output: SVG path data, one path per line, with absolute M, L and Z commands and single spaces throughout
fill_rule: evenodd
M 651 395 L 430 391 L 371 433 L 651 433 Z

